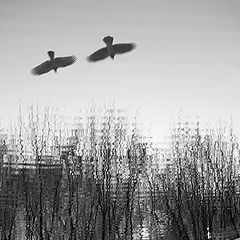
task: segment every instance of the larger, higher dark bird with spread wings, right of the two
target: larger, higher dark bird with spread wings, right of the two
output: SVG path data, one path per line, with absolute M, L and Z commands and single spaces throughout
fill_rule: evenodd
M 113 45 L 113 37 L 107 36 L 103 38 L 103 41 L 106 43 L 106 47 L 101 48 L 87 57 L 89 62 L 96 62 L 107 57 L 114 59 L 116 54 L 122 54 L 130 52 L 136 47 L 135 43 L 119 43 Z

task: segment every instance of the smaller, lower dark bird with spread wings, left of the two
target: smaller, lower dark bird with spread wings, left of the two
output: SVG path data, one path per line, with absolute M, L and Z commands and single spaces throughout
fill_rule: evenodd
M 50 60 L 45 61 L 38 65 L 37 67 L 33 68 L 31 71 L 33 75 L 42 75 L 51 70 L 57 72 L 58 68 L 69 66 L 75 63 L 77 60 L 75 56 L 54 58 L 55 53 L 53 51 L 48 51 L 47 53 Z

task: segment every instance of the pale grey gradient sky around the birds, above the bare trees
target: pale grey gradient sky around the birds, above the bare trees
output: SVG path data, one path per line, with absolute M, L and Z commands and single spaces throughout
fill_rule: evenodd
M 67 114 L 115 102 L 157 135 L 181 110 L 232 117 L 240 129 L 239 13 L 239 0 L 0 0 L 0 117 L 17 115 L 20 102 Z M 137 48 L 87 62 L 107 35 Z M 32 76 L 48 50 L 78 62 Z

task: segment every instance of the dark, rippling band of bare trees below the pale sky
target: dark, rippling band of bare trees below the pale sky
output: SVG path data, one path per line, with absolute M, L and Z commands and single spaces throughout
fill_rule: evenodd
M 234 135 L 173 130 L 160 151 L 122 111 L 92 109 L 69 128 L 32 109 L 1 137 L 1 239 L 239 237 Z

